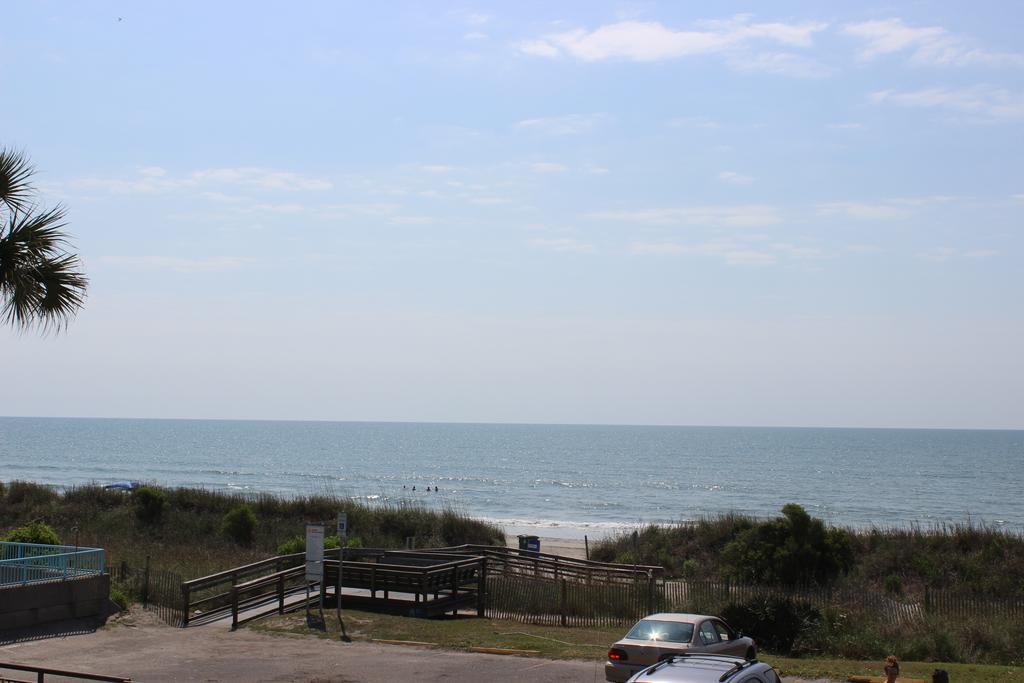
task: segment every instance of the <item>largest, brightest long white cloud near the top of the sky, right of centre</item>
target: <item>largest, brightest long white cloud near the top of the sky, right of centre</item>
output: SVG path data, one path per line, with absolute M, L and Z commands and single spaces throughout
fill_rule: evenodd
M 788 52 L 764 52 L 760 44 L 810 47 L 826 24 L 753 23 L 749 15 L 702 22 L 694 30 L 674 30 L 657 22 L 618 22 L 593 31 L 573 29 L 523 41 L 518 48 L 543 57 L 569 56 L 581 61 L 628 59 L 662 61 L 701 54 L 722 54 L 737 69 L 808 75 L 810 62 Z M 797 73 L 801 72 L 801 73 Z

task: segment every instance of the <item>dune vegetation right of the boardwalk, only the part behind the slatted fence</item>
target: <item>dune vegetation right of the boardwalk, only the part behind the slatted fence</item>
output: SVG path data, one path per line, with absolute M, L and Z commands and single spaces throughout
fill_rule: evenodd
M 841 529 L 793 504 L 775 519 L 727 514 L 648 525 L 593 544 L 591 557 L 660 564 L 669 577 L 687 579 L 1024 598 L 1020 535 L 978 524 Z

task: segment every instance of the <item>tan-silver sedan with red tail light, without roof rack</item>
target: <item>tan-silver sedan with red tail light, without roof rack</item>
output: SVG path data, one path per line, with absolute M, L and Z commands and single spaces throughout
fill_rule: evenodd
M 642 669 L 686 652 L 728 654 L 753 659 L 757 643 L 717 616 L 659 612 L 645 616 L 608 650 L 604 677 L 625 683 Z

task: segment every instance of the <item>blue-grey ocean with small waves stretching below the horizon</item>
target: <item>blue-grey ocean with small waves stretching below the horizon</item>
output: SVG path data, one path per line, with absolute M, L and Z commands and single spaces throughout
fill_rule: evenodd
M 333 494 L 559 538 L 786 503 L 1024 532 L 1024 431 L 0 418 L 14 479 Z

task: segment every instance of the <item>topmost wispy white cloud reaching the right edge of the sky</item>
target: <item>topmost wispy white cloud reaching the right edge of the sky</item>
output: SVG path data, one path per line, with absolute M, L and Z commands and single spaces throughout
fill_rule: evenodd
M 861 59 L 909 52 L 910 62 L 919 66 L 1024 67 L 1024 53 L 990 52 L 972 46 L 942 27 L 910 27 L 901 18 L 848 24 L 843 27 L 843 33 L 863 41 Z

